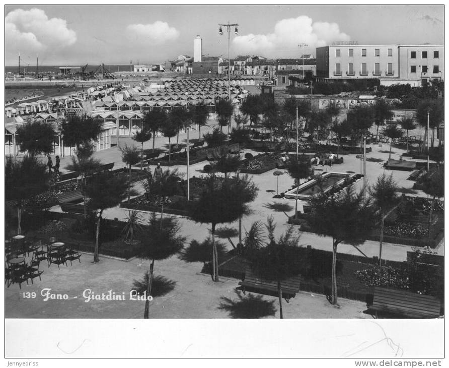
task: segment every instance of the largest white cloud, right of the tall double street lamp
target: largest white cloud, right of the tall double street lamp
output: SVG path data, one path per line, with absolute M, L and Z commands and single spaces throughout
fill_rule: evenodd
M 300 16 L 278 21 L 273 33 L 250 33 L 235 37 L 233 50 L 243 54 L 283 57 L 302 54 L 303 51 L 298 50 L 298 44 L 306 43 L 308 47 L 304 52 L 315 54 L 315 47 L 350 39 L 346 33 L 340 32 L 336 23 L 313 22 L 308 16 Z

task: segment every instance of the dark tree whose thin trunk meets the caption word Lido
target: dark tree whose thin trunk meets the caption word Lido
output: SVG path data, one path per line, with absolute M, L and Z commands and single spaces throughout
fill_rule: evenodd
M 181 225 L 172 218 L 166 218 L 162 221 L 162 219 L 158 220 L 156 217 L 152 217 L 149 225 L 140 236 L 142 245 L 138 257 L 151 260 L 147 273 L 148 283 L 146 287 L 145 311 L 143 313 L 144 319 L 148 319 L 148 297 L 152 294 L 155 261 L 170 258 L 182 250 L 186 238 L 179 235 L 180 228 Z

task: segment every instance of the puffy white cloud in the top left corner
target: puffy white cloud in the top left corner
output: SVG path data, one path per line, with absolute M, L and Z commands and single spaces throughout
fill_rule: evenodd
M 6 49 L 42 51 L 70 46 L 77 34 L 60 18 L 49 19 L 41 9 L 16 9 L 5 17 Z

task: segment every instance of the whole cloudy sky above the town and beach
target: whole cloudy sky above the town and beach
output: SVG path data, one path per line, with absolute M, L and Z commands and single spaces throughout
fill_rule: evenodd
M 156 64 L 181 54 L 269 58 L 315 55 L 333 42 L 413 44 L 444 42 L 444 8 L 436 6 L 5 6 L 5 63 L 39 65 Z M 299 44 L 307 45 L 298 47 Z

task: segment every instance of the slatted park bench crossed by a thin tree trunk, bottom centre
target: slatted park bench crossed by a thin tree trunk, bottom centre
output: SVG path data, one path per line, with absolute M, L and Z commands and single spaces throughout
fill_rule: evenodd
M 261 279 L 253 274 L 250 267 L 246 267 L 245 276 L 242 281 L 239 282 L 240 287 L 238 290 L 242 290 L 245 294 L 248 292 L 255 292 L 258 294 L 278 296 L 277 293 L 277 281 L 268 281 Z M 296 295 L 296 292 L 300 290 L 300 277 L 291 277 L 281 281 L 282 297 L 288 302 L 290 298 Z

